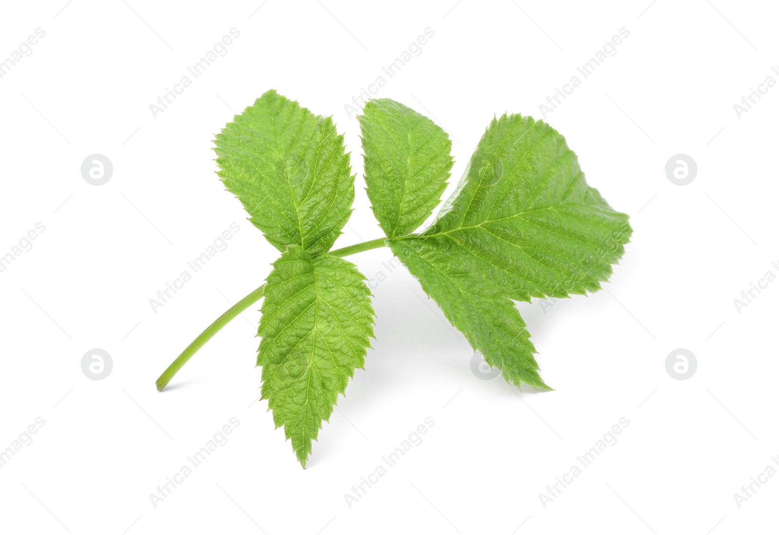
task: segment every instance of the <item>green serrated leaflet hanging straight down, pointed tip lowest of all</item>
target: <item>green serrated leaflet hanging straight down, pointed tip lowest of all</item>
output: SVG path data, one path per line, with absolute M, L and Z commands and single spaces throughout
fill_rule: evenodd
M 267 279 L 257 365 L 276 427 L 305 467 L 322 421 L 363 368 L 374 312 L 365 276 L 335 256 L 291 246 Z

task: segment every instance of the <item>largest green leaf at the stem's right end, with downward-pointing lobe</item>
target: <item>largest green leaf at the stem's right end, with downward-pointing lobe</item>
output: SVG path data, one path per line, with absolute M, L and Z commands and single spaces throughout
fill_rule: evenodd
M 390 247 L 488 364 L 548 388 L 510 300 L 599 290 L 629 240 L 627 221 L 587 186 L 554 128 L 503 115 L 435 224 Z

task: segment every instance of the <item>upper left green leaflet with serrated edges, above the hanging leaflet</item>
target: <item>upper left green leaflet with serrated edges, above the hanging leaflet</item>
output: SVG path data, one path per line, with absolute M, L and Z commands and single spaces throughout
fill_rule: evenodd
M 270 90 L 216 138 L 217 174 L 274 247 L 330 250 L 354 200 L 349 154 L 332 118 Z

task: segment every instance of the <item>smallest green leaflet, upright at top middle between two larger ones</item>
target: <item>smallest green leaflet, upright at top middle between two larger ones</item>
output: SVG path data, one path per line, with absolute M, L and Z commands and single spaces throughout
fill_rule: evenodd
M 452 142 L 439 125 L 388 98 L 370 100 L 359 120 L 373 213 L 388 237 L 410 234 L 441 202 Z

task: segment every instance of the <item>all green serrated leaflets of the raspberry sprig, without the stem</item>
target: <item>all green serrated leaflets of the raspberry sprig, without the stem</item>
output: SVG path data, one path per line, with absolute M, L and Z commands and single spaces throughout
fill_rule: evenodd
M 390 99 L 358 117 L 368 198 L 385 245 L 506 381 L 549 387 L 513 301 L 600 289 L 632 232 L 590 188 L 566 139 L 519 114 L 493 118 L 434 222 L 453 165 L 433 121 Z M 270 90 L 217 135 L 218 172 L 280 252 L 258 335 L 263 399 L 305 467 L 322 421 L 364 368 L 375 313 L 365 276 L 331 254 L 354 174 L 331 118 Z

